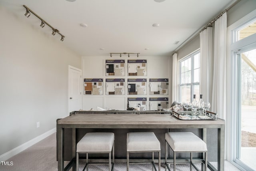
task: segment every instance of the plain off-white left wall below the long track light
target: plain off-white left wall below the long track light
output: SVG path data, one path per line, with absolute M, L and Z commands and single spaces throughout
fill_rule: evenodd
M 78 54 L 19 17 L 0 7 L 0 156 L 68 115 L 68 65 L 81 68 Z

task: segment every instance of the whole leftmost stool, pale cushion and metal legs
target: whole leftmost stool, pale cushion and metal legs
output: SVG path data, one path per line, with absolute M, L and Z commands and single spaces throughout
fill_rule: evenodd
M 111 151 L 113 149 L 114 168 L 114 133 L 93 132 L 86 133 L 76 145 L 76 170 L 78 170 L 78 159 L 80 153 L 86 153 L 86 165 L 88 171 L 88 153 L 108 153 L 109 171 L 111 171 Z M 84 169 L 85 169 L 84 167 Z

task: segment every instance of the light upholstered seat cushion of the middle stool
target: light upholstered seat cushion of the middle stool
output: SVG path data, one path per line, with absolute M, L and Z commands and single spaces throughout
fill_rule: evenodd
M 160 151 L 160 142 L 153 132 L 127 133 L 127 151 Z

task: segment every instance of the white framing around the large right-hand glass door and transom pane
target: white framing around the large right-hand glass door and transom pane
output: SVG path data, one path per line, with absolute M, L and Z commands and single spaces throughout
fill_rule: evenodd
M 238 159 L 240 154 L 238 139 L 241 138 L 241 135 L 238 133 L 241 130 L 239 122 L 241 120 L 241 99 L 239 98 L 240 96 L 238 97 L 241 92 L 241 80 L 238 76 L 241 71 L 239 55 L 256 46 L 256 34 L 238 40 L 238 31 L 255 21 L 256 10 L 229 26 L 227 30 L 230 32 L 230 38 L 227 37 L 227 40 L 230 40 L 227 48 L 227 56 L 230 56 L 230 99 L 227 101 L 227 106 L 230 107 L 227 107 L 226 112 L 233 114 L 227 115 L 226 118 L 226 132 L 230 132 L 230 135 L 226 134 L 226 145 L 231 144 L 228 147 L 226 146 L 226 159 L 242 171 L 250 171 L 252 169 Z

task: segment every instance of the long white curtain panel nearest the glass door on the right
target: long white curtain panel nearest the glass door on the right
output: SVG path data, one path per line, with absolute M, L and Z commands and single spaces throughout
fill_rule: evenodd
M 214 58 L 212 80 L 212 104 L 213 112 L 218 117 L 226 118 L 226 12 L 215 22 L 214 30 Z

